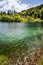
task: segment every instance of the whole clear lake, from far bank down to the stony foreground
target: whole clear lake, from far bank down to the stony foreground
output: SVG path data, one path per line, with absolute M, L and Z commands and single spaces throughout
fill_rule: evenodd
M 37 25 L 0 22 L 0 65 L 43 65 L 43 27 Z

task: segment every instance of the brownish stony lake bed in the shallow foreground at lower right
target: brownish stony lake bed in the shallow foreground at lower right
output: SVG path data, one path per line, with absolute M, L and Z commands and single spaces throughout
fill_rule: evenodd
M 18 58 L 12 56 L 8 60 L 8 65 L 43 65 L 43 54 L 41 54 L 41 49 L 37 48 L 33 51 L 22 53 Z

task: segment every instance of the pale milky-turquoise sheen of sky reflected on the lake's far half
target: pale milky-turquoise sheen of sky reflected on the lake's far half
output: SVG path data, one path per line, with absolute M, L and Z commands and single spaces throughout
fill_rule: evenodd
M 0 23 L 0 40 L 19 40 L 39 34 L 39 27 L 29 27 L 24 23 Z

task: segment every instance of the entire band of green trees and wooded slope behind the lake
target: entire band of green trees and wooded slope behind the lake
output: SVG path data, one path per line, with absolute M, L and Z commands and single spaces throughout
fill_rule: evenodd
M 1 22 L 43 22 L 43 4 L 19 13 L 0 12 Z

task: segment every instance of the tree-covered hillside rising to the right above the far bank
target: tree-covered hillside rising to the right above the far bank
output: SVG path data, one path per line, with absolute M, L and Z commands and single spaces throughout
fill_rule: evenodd
M 19 13 L 21 16 L 23 17 L 27 17 L 30 18 L 31 20 L 35 20 L 35 21 L 43 21 L 43 4 L 30 8 L 28 10 L 22 11 L 21 13 Z M 32 18 L 31 18 L 32 17 Z

